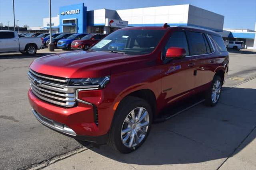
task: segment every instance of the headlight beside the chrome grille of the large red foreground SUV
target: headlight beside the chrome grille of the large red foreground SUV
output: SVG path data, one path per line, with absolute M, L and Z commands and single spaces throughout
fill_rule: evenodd
M 100 78 L 70 78 L 70 86 L 89 86 L 89 85 L 100 85 L 100 88 L 104 88 L 108 84 L 110 76 Z

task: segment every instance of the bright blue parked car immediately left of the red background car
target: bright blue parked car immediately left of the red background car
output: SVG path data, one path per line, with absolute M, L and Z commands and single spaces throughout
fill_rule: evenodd
M 71 49 L 71 43 L 72 41 L 74 40 L 77 40 L 77 39 L 82 39 L 82 37 L 88 35 L 88 33 L 76 33 L 76 34 L 73 34 L 73 35 L 70 35 L 69 37 L 67 37 L 66 39 L 61 39 L 58 41 L 58 44 L 57 44 L 57 47 L 59 49 Z

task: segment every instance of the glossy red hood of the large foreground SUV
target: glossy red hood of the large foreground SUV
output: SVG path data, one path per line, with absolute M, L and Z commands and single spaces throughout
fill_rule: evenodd
M 142 60 L 145 60 L 145 57 L 79 50 L 40 57 L 32 62 L 30 68 L 36 72 L 52 76 L 93 78 L 110 75 L 111 70 L 116 72 L 120 69 L 140 66 L 140 63 L 145 63 Z M 114 69 L 112 69 L 113 67 Z

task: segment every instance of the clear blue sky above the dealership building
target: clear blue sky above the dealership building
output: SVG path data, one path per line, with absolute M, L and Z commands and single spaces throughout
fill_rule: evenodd
M 122 10 L 152 6 L 191 4 L 225 16 L 224 28 L 248 28 L 254 30 L 256 0 L 52 0 L 52 17 L 57 16 L 60 6 L 84 2 L 87 10 Z M 43 18 L 49 17 L 49 0 L 14 0 L 15 20 L 19 26 L 42 26 Z M 12 0 L 0 0 L 0 23 L 13 25 Z M 17 22 L 16 22 L 17 24 Z

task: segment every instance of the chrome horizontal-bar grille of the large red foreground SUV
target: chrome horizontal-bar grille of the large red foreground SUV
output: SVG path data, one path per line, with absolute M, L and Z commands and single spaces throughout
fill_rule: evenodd
M 41 100 L 64 107 L 73 107 L 76 104 L 74 88 L 66 86 L 68 78 L 46 76 L 31 69 L 28 78 L 32 92 Z

